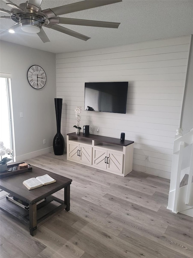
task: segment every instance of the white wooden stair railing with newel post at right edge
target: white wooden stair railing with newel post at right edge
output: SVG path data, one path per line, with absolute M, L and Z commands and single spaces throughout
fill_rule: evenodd
M 191 145 L 193 142 L 193 130 L 187 134 L 180 136 L 179 133 L 176 134 L 177 139 L 174 141 L 173 147 L 173 158 L 172 158 L 172 170 L 170 178 L 170 188 L 169 188 L 169 197 L 168 197 L 168 207 L 167 209 L 171 210 L 173 213 L 178 213 L 178 204 L 179 204 L 179 185 L 180 185 L 180 175 L 182 170 L 182 158 L 183 151 L 187 145 Z M 184 203 L 188 205 L 190 203 L 191 192 L 192 192 L 192 175 L 193 175 L 193 144 L 191 149 L 191 161 L 189 167 L 189 176 L 188 176 L 188 187 L 186 192 L 186 198 Z M 182 199 L 182 198 L 181 198 Z

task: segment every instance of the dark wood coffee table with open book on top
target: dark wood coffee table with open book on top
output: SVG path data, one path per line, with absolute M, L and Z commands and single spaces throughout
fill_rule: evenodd
M 56 180 L 55 183 L 44 185 L 39 188 L 28 190 L 22 182 L 26 179 L 48 174 Z M 37 225 L 42 224 L 54 216 L 56 213 L 70 210 L 70 184 L 72 179 L 49 172 L 42 168 L 32 166 L 32 171 L 22 174 L 12 175 L 0 179 L 0 188 L 6 192 L 29 203 L 29 211 L 3 198 L 0 200 L 0 209 L 21 222 L 27 223 L 30 227 L 30 234 L 33 236 Z M 64 188 L 64 201 L 52 196 L 51 194 Z M 45 201 L 36 203 L 46 198 Z

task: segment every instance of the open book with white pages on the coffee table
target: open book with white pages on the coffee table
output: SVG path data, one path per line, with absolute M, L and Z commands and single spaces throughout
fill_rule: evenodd
M 23 184 L 27 187 L 27 189 L 31 190 L 31 189 L 35 189 L 35 188 L 38 188 L 43 185 L 52 184 L 54 182 L 56 182 L 56 180 L 46 174 L 43 176 L 38 176 L 36 178 L 33 177 L 30 179 L 27 179 L 27 180 L 23 181 Z

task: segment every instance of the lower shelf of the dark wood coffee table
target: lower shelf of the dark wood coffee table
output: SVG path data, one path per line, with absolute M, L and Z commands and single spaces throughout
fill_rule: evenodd
M 46 197 L 46 200 L 37 205 L 37 225 L 42 224 L 50 216 L 54 216 L 56 213 L 66 208 L 64 201 L 50 195 Z M 13 202 L 3 198 L 0 200 L 0 209 L 13 217 L 19 219 L 22 223 L 30 225 L 29 211 L 14 204 Z

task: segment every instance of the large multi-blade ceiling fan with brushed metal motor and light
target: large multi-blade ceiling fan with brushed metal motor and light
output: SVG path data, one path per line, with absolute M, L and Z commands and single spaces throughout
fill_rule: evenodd
M 72 31 L 63 26 L 60 26 L 58 24 L 74 24 L 105 28 L 118 28 L 120 24 L 119 22 L 62 18 L 58 17 L 58 15 L 86 10 L 103 5 L 114 4 L 117 2 L 122 2 L 122 0 L 85 0 L 45 10 L 42 10 L 40 8 L 42 0 L 28 0 L 25 3 L 21 3 L 19 6 L 15 5 L 13 2 L 9 0 L 2 1 L 5 2 L 6 5 L 11 7 L 11 11 L 0 8 L 1 12 L 8 13 L 10 15 L 1 16 L 0 18 L 12 19 L 16 23 L 11 27 L 1 31 L 1 33 L 8 31 L 8 29 L 15 29 L 20 26 L 22 31 L 37 33 L 37 35 L 40 37 L 43 43 L 50 41 L 42 28 L 43 26 L 68 34 L 72 37 L 87 41 L 89 37 L 80 34 L 76 31 Z

